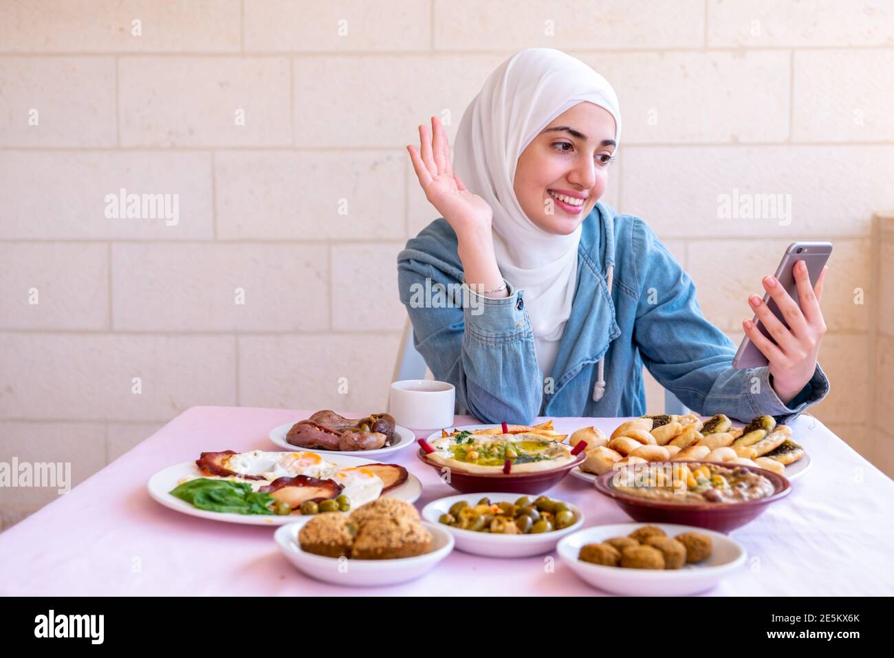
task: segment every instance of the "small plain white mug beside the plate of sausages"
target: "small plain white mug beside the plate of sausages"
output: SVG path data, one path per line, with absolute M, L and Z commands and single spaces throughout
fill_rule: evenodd
M 453 423 L 456 389 L 446 381 L 402 380 L 391 385 L 388 413 L 410 430 L 441 430 Z

